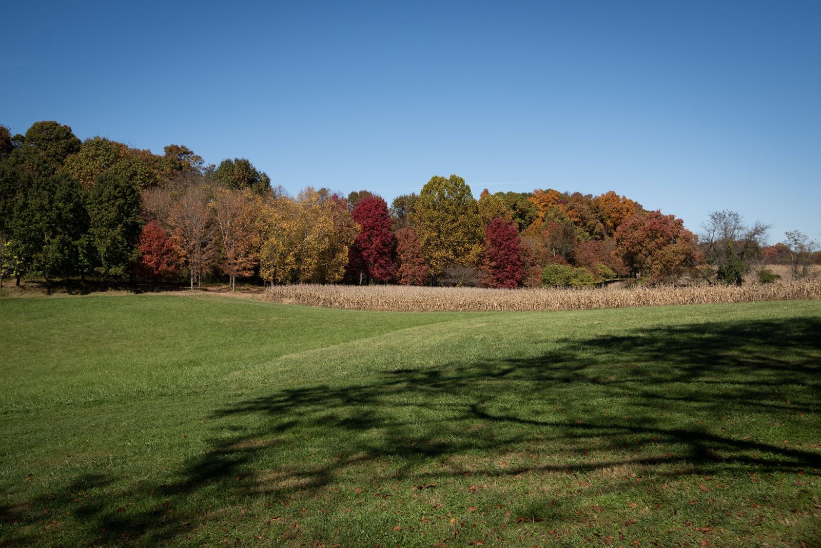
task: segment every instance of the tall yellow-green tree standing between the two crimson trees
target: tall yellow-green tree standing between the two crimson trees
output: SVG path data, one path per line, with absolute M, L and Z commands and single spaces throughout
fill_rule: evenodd
M 446 267 L 469 267 L 479 261 L 484 240 L 479 209 L 461 177 L 433 176 L 422 188 L 411 218 L 433 276 Z

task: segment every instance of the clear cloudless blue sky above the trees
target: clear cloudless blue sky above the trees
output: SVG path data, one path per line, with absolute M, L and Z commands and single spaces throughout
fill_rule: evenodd
M 821 2 L 7 2 L 0 123 L 274 184 L 616 190 L 821 241 Z

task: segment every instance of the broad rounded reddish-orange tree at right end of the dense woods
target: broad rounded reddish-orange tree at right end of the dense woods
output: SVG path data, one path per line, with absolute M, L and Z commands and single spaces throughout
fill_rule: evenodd
M 661 212 L 636 213 L 616 231 L 616 251 L 632 276 L 676 281 L 700 258 L 696 238 L 684 221 Z

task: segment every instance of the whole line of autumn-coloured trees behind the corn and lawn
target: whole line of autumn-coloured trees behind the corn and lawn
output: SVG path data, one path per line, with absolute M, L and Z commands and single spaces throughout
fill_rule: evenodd
M 755 264 L 819 262 L 798 231 L 766 245 L 768 226 L 713 212 L 700 235 L 673 215 L 610 191 L 498 192 L 475 199 L 459 176 L 433 176 L 390 206 L 274 187 L 245 158 L 206 165 L 184 145 L 163 154 L 56 121 L 25 135 L 0 126 L 2 276 L 181 281 L 225 276 L 268 284 L 398 283 L 514 288 L 681 276 L 741 284 Z M 772 274 L 772 273 L 770 273 Z M 770 281 L 759 268 L 760 281 Z

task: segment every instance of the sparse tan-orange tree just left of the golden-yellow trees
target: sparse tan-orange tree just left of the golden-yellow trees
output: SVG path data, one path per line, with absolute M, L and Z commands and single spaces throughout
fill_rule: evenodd
M 222 244 L 220 268 L 228 275 L 232 291 L 236 290 L 236 277 L 253 274 L 259 261 L 259 203 L 259 196 L 250 188 L 214 193 L 211 208 Z

